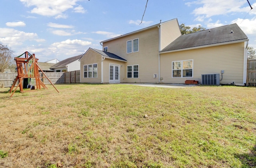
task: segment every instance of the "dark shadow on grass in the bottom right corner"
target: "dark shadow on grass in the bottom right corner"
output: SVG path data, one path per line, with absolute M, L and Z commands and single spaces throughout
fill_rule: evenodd
M 242 162 L 241 168 L 255 168 L 256 167 L 256 145 L 249 153 L 236 154 L 236 158 L 239 158 Z

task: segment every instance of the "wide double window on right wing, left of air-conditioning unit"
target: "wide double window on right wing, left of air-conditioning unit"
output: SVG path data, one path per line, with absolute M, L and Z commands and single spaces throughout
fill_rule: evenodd
M 193 60 L 172 61 L 172 77 L 193 77 Z

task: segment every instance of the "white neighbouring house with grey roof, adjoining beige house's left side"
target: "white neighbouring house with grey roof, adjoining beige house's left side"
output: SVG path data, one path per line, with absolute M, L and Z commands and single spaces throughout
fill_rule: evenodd
M 55 72 L 61 72 L 64 69 L 66 69 L 67 72 L 80 70 L 80 62 L 78 61 L 80 57 L 82 57 L 82 54 L 64 59 L 63 61 L 54 64 L 50 69 L 53 69 Z

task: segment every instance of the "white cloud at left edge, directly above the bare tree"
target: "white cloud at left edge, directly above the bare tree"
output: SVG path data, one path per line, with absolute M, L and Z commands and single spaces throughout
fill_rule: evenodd
M 39 39 L 36 33 L 26 33 L 15 29 L 0 28 L 0 42 L 11 46 L 22 45 L 24 41 L 44 42 L 44 39 Z

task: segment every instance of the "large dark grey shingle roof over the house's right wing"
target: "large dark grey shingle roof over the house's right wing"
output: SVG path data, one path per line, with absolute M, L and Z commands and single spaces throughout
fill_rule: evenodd
M 248 37 L 237 24 L 230 24 L 182 35 L 162 49 L 161 52 L 246 39 Z

